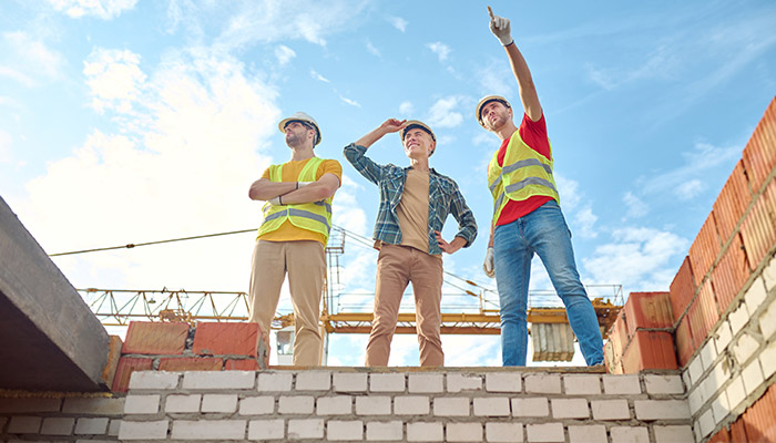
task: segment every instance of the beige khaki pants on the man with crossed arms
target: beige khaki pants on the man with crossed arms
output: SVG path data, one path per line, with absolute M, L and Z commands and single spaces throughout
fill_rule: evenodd
M 269 332 L 280 287 L 288 274 L 294 305 L 294 364 L 320 364 L 320 297 L 326 258 L 324 245 L 313 240 L 256 241 L 251 271 L 249 318 L 262 332 Z

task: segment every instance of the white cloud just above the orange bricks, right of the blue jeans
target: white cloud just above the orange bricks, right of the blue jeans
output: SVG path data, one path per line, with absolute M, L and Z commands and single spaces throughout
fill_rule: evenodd
M 667 264 L 687 246 L 686 239 L 670 231 L 622 228 L 612 233 L 611 243 L 596 247 L 582 261 L 592 275 L 590 284 L 623 284 L 627 285 L 626 292 L 667 290 L 673 277 Z

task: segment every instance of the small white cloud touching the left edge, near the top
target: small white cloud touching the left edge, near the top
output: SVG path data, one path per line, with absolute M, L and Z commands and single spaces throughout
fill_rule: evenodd
M 6 76 L 32 85 L 35 78 L 58 79 L 61 75 L 64 58 L 40 37 L 22 31 L 6 32 L 2 37 L 9 49 L 6 58 L 17 66 L 3 68 Z

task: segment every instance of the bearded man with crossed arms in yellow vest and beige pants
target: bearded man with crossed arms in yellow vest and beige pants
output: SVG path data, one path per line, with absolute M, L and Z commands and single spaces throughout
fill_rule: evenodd
M 270 165 L 248 190 L 251 199 L 266 202 L 253 253 L 248 321 L 258 323 L 263 333 L 269 332 L 287 274 L 294 305 L 294 364 L 317 365 L 324 251 L 343 166 L 315 155 L 320 128 L 304 112 L 282 120 L 278 128 L 286 134 L 292 158 Z

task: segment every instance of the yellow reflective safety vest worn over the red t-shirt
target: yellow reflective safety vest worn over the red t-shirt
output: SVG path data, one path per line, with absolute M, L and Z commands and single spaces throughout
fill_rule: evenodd
M 552 177 L 552 159 L 544 157 L 523 142 L 518 131 L 507 145 L 504 166 L 499 166 L 499 152 L 488 166 L 488 187 L 493 195 L 493 222 L 511 200 L 521 202 L 534 195 L 554 198 L 560 203 L 555 179 Z

